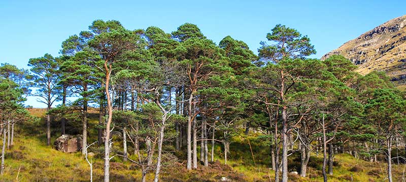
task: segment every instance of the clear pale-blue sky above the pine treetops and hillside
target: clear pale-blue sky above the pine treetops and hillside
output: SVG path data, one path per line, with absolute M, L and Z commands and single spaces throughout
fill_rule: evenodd
M 219 42 L 230 35 L 257 53 L 276 24 L 308 35 L 320 58 L 348 40 L 406 14 L 406 1 L 0 1 L 0 63 L 28 68 L 29 58 L 58 56 L 69 35 L 95 19 L 118 20 L 127 29 L 157 26 L 170 33 L 197 24 Z M 28 98 L 27 105 L 45 107 Z

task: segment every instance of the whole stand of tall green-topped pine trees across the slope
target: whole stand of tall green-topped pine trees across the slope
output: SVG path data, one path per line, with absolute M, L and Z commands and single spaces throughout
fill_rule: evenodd
M 22 96 L 36 88 L 31 95 L 48 106 L 48 145 L 56 137 L 51 120 L 62 134 L 81 133 L 86 159 L 89 149 L 105 160 L 105 181 L 116 158 L 138 166 L 143 181 L 151 171 L 158 181 L 161 169 L 181 160 L 188 170 L 208 167 L 209 158 L 227 164 L 227 155 L 240 150 L 232 145 L 236 139 L 266 149 L 267 160 L 255 159 L 251 143 L 246 152 L 253 165 L 272 168 L 276 181 L 280 169 L 282 181 L 293 170 L 305 177 L 316 160 L 311 155 L 319 152 L 326 181 L 337 153 L 384 161 L 377 156 L 391 158 L 393 148 L 404 147 L 405 93 L 384 73 L 359 75 L 343 56 L 309 59 L 316 53 L 310 38 L 284 25 L 266 39 L 255 55 L 244 41 L 226 36 L 216 44 L 190 23 L 165 33 L 95 20 L 62 42 L 60 57 L 30 59 L 31 75 L 0 67 L 0 124 L 5 132 L 7 120 L 21 111 Z M 51 109 L 56 101 L 62 104 Z M 90 106 L 98 110 L 95 125 L 89 124 Z M 87 141 L 99 147 L 88 148 Z M 217 143 L 223 156 L 214 156 Z M 293 158 L 300 166 L 292 168 Z M 392 180 L 392 160 L 386 161 Z

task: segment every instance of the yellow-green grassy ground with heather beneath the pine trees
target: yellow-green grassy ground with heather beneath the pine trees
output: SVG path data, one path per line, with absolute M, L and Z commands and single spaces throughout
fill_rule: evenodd
M 34 115 L 41 112 L 31 111 Z M 91 120 L 90 125 L 96 122 Z M 45 134 L 38 134 L 43 127 L 42 122 L 20 125 L 14 146 L 6 151 L 5 174 L 0 181 L 89 181 L 90 168 L 80 152 L 62 153 L 51 146 L 46 146 Z M 37 128 L 37 129 L 35 129 Z M 90 136 L 96 136 L 89 131 Z M 55 140 L 52 138 L 52 141 Z M 251 155 L 252 147 L 254 159 Z M 92 142 L 90 140 L 89 142 Z M 228 165 L 224 165 L 221 145 L 215 147 L 215 162 L 209 167 L 199 165 L 198 169 L 187 171 L 184 154 L 175 153 L 177 162 L 164 163 L 161 181 L 220 181 L 226 177 L 232 181 L 274 181 L 274 171 L 269 168 L 270 157 L 268 148 L 261 145 L 257 137 L 250 136 L 233 138 L 230 146 Z M 102 148 L 95 148 L 95 153 Z M 199 150 L 198 150 L 199 151 Z M 101 156 L 101 155 L 100 155 Z M 198 155 L 199 156 L 199 155 Z M 210 159 L 210 156 L 209 156 Z M 309 163 L 308 177 L 289 174 L 289 181 L 323 181 L 321 167 L 322 154 L 314 154 Z M 289 170 L 298 171 L 300 159 L 289 157 Z M 141 169 L 131 162 L 123 162 L 115 157 L 110 163 L 111 181 L 140 181 Z M 402 181 L 406 165 L 393 165 L 394 181 Z M 152 181 L 153 171 L 148 174 L 147 181 Z M 334 174 L 328 175 L 329 181 L 385 181 L 386 163 L 367 162 L 356 159 L 349 154 L 337 154 L 334 158 Z M 103 181 L 103 160 L 99 155 L 93 159 L 93 181 Z

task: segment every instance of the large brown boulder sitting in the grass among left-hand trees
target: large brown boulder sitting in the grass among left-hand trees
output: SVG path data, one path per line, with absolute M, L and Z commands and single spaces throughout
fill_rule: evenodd
M 82 136 L 62 134 L 54 142 L 55 149 L 62 152 L 78 152 L 82 149 Z

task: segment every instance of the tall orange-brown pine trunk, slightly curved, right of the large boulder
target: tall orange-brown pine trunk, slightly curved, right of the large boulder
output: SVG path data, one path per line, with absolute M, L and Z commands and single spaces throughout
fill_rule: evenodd
M 110 98 L 110 91 L 109 91 L 109 82 L 110 82 L 110 73 L 111 73 L 111 65 L 109 68 L 107 66 L 108 61 L 105 62 L 105 70 L 106 70 L 106 97 L 107 97 L 107 110 L 108 110 L 108 119 L 106 123 L 106 131 L 105 131 L 105 171 L 104 171 L 104 181 L 110 181 L 110 124 L 112 121 L 113 116 L 113 106 L 111 104 Z

